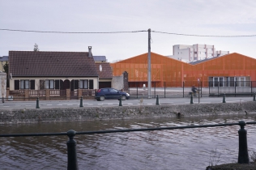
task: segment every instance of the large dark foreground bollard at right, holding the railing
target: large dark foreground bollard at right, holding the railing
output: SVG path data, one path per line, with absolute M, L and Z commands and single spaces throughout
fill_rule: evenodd
M 249 155 L 247 148 L 247 131 L 245 130 L 245 121 L 239 121 L 241 127 L 238 130 L 239 135 L 239 151 L 238 151 L 238 164 L 249 164 Z

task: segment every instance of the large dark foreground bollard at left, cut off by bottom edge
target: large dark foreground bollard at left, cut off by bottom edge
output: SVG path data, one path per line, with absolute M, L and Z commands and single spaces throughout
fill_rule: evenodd
M 67 131 L 69 140 L 66 142 L 67 146 L 67 170 L 79 169 L 76 157 L 76 142 L 74 140 L 75 130 Z

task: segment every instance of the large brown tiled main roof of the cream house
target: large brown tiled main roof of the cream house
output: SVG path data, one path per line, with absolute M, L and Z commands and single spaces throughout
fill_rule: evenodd
M 98 76 L 87 52 L 9 51 L 9 73 L 13 77 Z

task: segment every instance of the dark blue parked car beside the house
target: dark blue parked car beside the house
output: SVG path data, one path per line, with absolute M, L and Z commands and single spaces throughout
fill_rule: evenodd
M 104 100 L 128 100 L 130 98 L 130 94 L 124 91 L 118 91 L 114 88 L 100 88 L 96 91 L 95 99 L 98 101 Z

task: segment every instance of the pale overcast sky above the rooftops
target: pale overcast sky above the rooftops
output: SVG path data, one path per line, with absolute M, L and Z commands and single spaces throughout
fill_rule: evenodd
M 151 52 L 173 54 L 173 45 L 215 45 L 256 58 L 255 0 L 0 0 L 0 29 L 44 32 L 151 31 Z M 147 32 L 60 34 L 0 30 L 0 56 L 10 50 L 87 52 L 109 62 L 147 53 Z

